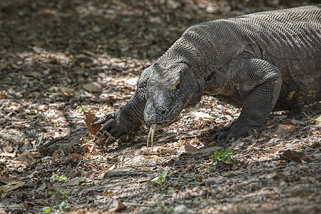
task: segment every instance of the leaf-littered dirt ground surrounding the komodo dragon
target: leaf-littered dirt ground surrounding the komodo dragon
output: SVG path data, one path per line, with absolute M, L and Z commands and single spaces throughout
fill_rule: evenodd
M 240 109 L 205 96 L 156 131 L 148 154 L 148 128 L 106 145 L 83 116 L 121 108 L 188 26 L 315 3 L 1 0 L 0 213 L 321 213 L 310 120 L 320 103 L 304 109 L 310 118 L 275 112 L 257 136 L 221 143 L 210 136 Z M 211 168 L 215 149 L 234 149 L 234 163 Z

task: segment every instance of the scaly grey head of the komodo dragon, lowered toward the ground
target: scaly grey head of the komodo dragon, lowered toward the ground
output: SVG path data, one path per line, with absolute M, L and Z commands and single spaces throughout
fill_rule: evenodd
M 166 68 L 153 64 L 146 86 L 144 119 L 148 125 L 169 126 L 183 108 L 198 96 L 199 86 L 193 71 L 185 63 Z

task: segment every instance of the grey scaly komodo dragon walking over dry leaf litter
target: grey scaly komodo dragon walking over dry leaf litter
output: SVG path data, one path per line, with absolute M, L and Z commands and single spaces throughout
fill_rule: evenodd
M 190 26 L 141 73 L 126 105 L 93 123 L 103 124 L 96 136 L 125 141 L 143 120 L 169 126 L 203 94 L 242 108 L 213 136 L 225 142 L 253 134 L 271 111 L 321 101 L 321 4 Z

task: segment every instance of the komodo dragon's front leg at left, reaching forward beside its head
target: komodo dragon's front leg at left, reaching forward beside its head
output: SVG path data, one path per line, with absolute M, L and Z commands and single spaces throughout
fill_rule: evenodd
M 143 111 L 146 106 L 146 86 L 151 73 L 151 67 L 146 68 L 141 74 L 137 83 L 137 89 L 126 105 L 115 111 L 113 114 L 99 118 L 95 124 L 103 124 L 101 129 L 96 133 L 100 138 L 111 138 L 108 142 L 124 142 L 131 139 L 133 132 L 141 126 L 143 121 Z

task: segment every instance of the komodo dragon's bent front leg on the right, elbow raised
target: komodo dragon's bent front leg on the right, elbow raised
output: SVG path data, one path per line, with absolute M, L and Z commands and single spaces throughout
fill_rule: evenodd
M 241 66 L 236 74 L 238 83 L 235 86 L 240 96 L 244 97 L 242 111 L 231 128 L 223 128 L 215 133 L 212 139 L 218 141 L 225 138 L 225 142 L 228 142 L 231 138 L 252 135 L 254 129 L 264 125 L 280 94 L 281 74 L 272 63 L 258 58 L 238 63 Z

